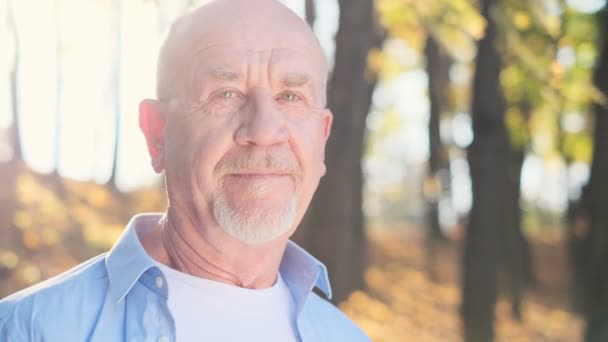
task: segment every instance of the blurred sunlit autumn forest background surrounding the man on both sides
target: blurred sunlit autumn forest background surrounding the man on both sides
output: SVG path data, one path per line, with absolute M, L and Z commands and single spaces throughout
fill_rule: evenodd
M 163 211 L 137 124 L 207 1 L 0 0 L 0 298 Z M 608 341 L 606 0 L 284 0 L 333 65 L 294 239 L 374 341 Z

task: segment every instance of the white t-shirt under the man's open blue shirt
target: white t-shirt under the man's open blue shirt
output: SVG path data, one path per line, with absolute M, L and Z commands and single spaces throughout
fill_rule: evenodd
M 177 342 L 298 341 L 295 302 L 280 274 L 272 287 L 252 290 L 158 266 Z

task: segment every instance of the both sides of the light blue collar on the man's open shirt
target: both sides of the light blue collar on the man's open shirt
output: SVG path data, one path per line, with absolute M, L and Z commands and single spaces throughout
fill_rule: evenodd
M 161 218 L 161 214 L 134 216 L 110 250 L 105 263 L 110 291 L 117 302 L 127 295 L 144 272 L 156 266 L 139 241 L 138 234 L 145 236 L 156 227 Z M 331 298 L 325 265 L 291 241 L 287 244 L 279 271 L 292 291 L 298 309 L 301 309 L 315 286 Z

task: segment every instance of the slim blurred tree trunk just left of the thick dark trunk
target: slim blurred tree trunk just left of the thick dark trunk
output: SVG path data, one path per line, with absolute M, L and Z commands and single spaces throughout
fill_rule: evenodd
M 439 200 L 442 195 L 442 177 L 448 166 L 448 155 L 441 142 L 441 112 L 447 101 L 449 82 L 449 58 L 441 51 L 438 42 L 429 34 L 426 47 L 426 70 L 429 78 L 429 166 L 425 182 L 427 265 L 431 279 L 436 278 L 435 264 L 437 244 L 445 240 L 439 222 Z

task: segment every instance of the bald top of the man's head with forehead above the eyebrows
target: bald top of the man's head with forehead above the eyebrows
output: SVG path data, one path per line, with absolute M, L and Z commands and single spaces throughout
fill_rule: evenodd
M 268 50 L 271 58 L 259 58 Z M 275 0 L 214 1 L 172 26 L 159 55 L 157 93 L 159 98 L 177 96 L 186 91 L 178 89 L 182 80 L 197 83 L 209 68 L 230 79 L 229 69 L 247 76 L 262 63 L 272 79 L 299 71 L 310 75 L 311 84 L 326 86 L 328 65 L 320 44 L 291 10 Z

